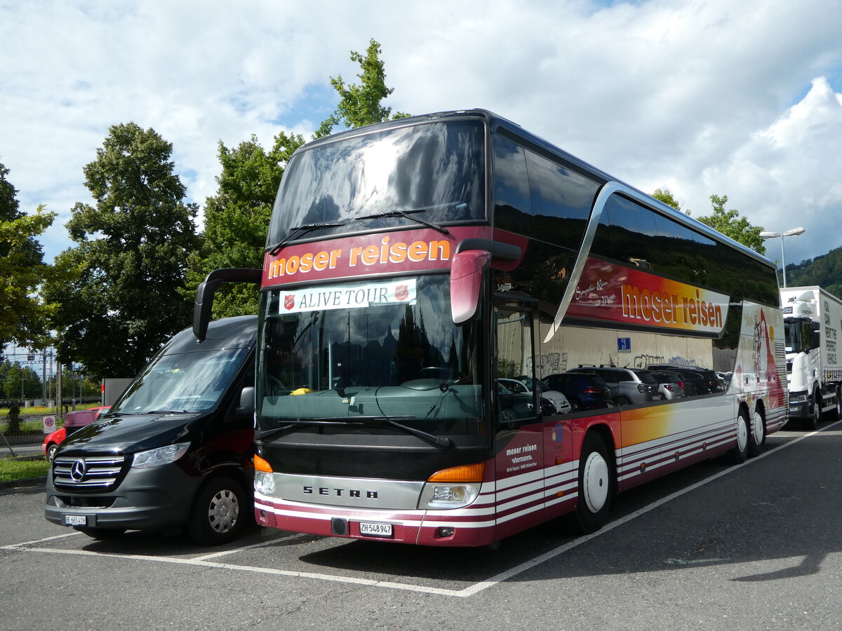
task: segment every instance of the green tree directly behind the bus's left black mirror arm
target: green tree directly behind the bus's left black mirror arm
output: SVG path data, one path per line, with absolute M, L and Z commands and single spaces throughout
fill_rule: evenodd
M 221 174 L 214 197 L 205 204 L 202 246 L 189 258 L 185 298 L 193 300 L 196 286 L 218 268 L 262 268 L 266 232 L 284 165 L 304 144 L 301 135 L 274 137 L 265 151 L 256 136 L 234 149 L 219 143 Z M 214 299 L 215 318 L 257 313 L 253 286 L 224 284 Z

